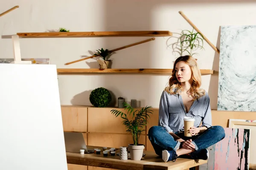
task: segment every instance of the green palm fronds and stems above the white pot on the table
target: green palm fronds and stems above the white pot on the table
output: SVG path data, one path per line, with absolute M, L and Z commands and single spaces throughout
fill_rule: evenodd
M 143 126 L 147 125 L 148 119 L 150 118 L 149 113 L 152 114 L 151 106 L 146 106 L 139 110 L 134 110 L 128 103 L 124 102 L 125 110 L 127 114 L 119 110 L 111 110 L 111 113 L 114 116 L 121 116 L 123 125 L 125 125 L 126 132 L 131 133 L 132 139 L 134 141 L 134 146 L 139 144 L 140 135 L 145 128 Z M 128 116 L 131 116 L 131 120 L 128 119 Z

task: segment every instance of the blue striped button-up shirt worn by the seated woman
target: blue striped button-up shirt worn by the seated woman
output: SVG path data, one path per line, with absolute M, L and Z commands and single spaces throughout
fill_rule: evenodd
M 180 94 L 171 95 L 163 91 L 159 105 L 158 126 L 165 127 L 168 132 L 179 132 L 184 130 L 184 116 L 195 118 L 195 127 L 212 126 L 212 114 L 210 107 L 210 99 L 207 92 L 205 95 L 195 100 L 186 113 L 185 106 Z

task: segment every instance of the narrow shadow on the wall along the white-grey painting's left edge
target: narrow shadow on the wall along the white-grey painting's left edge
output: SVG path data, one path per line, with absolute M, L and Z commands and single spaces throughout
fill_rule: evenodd
M 221 42 L 221 27 L 219 27 L 218 31 L 218 39 L 216 43 L 216 47 L 220 49 L 220 42 Z M 209 85 L 209 97 L 210 97 L 210 105 L 212 109 L 217 109 L 218 104 L 218 72 L 219 72 L 219 62 L 220 62 L 220 54 L 218 52 L 215 52 L 213 64 L 212 64 L 212 70 L 214 70 L 214 74 L 212 74 L 210 79 L 210 85 Z

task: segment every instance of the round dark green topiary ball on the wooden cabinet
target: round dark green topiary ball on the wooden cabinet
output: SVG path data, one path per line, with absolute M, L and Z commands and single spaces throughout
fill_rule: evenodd
M 94 107 L 104 108 L 111 102 L 111 94 L 105 88 L 96 88 L 91 92 L 89 99 Z

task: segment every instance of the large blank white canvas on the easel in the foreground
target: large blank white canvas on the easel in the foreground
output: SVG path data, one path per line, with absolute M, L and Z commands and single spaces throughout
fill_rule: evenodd
M 0 170 L 67 170 L 55 65 L 0 64 Z

